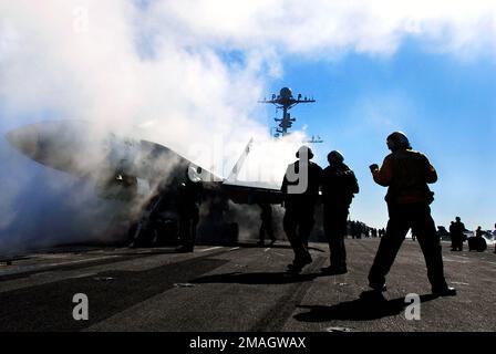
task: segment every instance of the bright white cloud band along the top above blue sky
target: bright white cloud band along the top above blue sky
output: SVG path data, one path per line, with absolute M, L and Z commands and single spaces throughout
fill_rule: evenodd
M 280 52 L 391 54 L 405 35 L 445 51 L 490 45 L 496 4 L 479 1 L 354 0 L 158 1 L 149 13 L 186 43 L 238 48 L 275 45 Z

